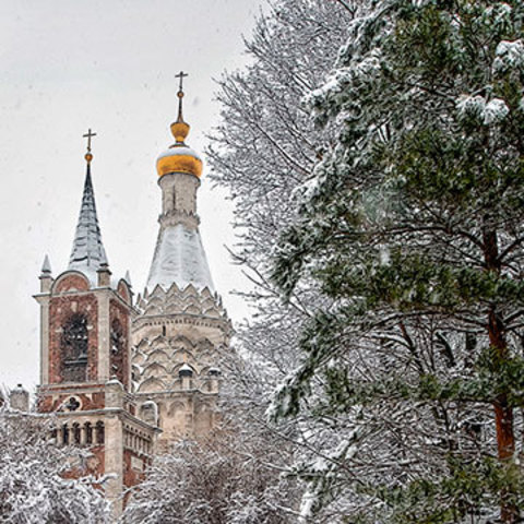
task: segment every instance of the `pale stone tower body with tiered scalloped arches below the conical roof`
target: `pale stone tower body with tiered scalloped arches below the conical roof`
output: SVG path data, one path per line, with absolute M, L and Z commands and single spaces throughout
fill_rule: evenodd
M 132 369 L 139 412 L 155 403 L 162 449 L 205 436 L 217 419 L 217 362 L 231 331 L 219 298 L 207 288 L 174 284 L 139 298 L 138 307 Z

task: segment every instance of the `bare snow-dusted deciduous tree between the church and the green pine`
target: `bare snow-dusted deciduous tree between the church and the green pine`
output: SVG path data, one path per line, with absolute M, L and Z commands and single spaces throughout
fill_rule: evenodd
M 285 475 L 310 477 L 310 464 L 340 449 L 345 431 L 310 413 L 273 422 L 266 408 L 272 391 L 300 359 L 299 336 L 315 309 L 331 301 L 309 282 L 284 306 L 270 282 L 270 254 L 290 223 L 302 184 L 317 159 L 336 138 L 336 126 L 313 127 L 302 98 L 319 87 L 348 36 L 357 2 L 278 0 L 258 21 L 247 43 L 250 66 L 225 75 L 218 99 L 223 122 L 207 152 L 212 178 L 226 187 L 235 203 L 238 243 L 235 255 L 254 286 L 246 295 L 252 319 L 237 333 L 245 361 L 229 361 L 225 412 L 231 409 L 252 438 L 273 434 L 273 445 L 287 449 Z M 331 450 L 331 451 L 330 451 Z M 282 466 L 282 465 L 281 465 Z M 303 505 L 309 508 L 309 495 Z M 295 504 L 296 505 L 296 504 Z M 334 523 L 333 513 L 317 522 Z

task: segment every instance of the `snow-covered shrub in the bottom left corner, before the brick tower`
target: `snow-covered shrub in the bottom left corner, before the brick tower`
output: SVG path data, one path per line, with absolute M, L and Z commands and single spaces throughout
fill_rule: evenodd
M 82 456 L 57 448 L 52 421 L 0 409 L 0 521 L 12 524 L 102 524 L 107 503 L 85 477 L 63 474 Z

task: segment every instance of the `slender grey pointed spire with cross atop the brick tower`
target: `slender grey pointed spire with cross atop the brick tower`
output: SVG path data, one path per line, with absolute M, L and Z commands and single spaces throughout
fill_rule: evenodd
M 79 223 L 73 240 L 73 249 L 69 260 L 69 269 L 84 273 L 92 282 L 96 283 L 96 271 L 102 264 L 107 265 L 106 250 L 102 243 L 100 228 L 96 216 L 95 193 L 93 191 L 93 181 L 91 179 L 91 138 L 95 133 L 84 134 L 87 138 L 87 153 L 85 160 L 87 163 L 85 172 L 84 193 L 80 209 Z

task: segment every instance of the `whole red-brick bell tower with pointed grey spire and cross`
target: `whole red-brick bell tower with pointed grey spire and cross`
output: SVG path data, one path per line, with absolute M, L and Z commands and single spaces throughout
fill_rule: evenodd
M 112 474 L 105 485 L 115 519 L 122 492 L 140 481 L 159 431 L 135 417 L 130 391 L 131 321 L 135 314 L 129 277 L 114 279 L 102 242 L 91 177 L 90 132 L 80 217 L 68 269 L 40 274 L 40 385 L 38 410 L 53 413 L 58 445 L 90 450 L 72 475 Z

